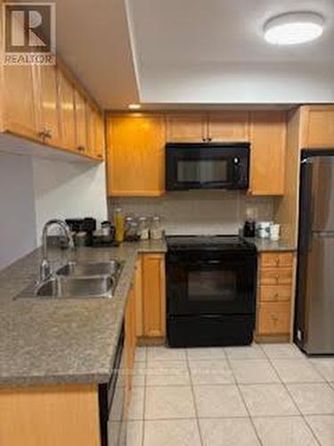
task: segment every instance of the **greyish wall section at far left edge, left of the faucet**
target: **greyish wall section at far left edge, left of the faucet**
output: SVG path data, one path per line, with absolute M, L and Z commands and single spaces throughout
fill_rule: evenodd
M 0 153 L 0 269 L 35 247 L 36 214 L 31 158 Z

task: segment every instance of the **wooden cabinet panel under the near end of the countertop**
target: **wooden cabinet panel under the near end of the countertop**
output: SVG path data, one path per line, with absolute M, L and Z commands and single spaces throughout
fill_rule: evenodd
M 1 446 L 101 446 L 95 384 L 0 388 Z

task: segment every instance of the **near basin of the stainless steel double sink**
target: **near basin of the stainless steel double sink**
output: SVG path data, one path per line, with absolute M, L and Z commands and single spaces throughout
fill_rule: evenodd
M 110 276 L 52 277 L 37 288 L 37 296 L 54 298 L 111 297 L 115 282 Z

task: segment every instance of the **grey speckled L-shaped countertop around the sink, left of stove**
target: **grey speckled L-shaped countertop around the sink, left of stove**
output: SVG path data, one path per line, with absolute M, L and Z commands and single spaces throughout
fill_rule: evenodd
M 107 382 L 137 254 L 166 250 L 164 241 L 50 250 L 53 268 L 69 260 L 124 260 L 112 299 L 14 300 L 37 279 L 40 250 L 1 271 L 0 385 Z

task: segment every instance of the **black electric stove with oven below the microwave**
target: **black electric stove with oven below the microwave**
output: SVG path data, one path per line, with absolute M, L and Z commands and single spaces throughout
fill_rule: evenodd
M 167 340 L 171 347 L 253 340 L 257 249 L 237 235 L 167 237 Z

